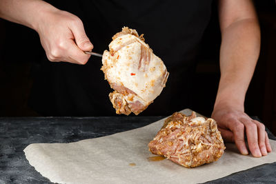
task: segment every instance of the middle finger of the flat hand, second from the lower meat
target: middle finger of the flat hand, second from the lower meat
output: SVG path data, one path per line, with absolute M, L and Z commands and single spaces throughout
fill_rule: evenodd
M 246 127 L 247 142 L 250 152 L 255 157 L 261 157 L 262 153 L 259 150 L 257 125 L 248 119 L 241 119 Z

